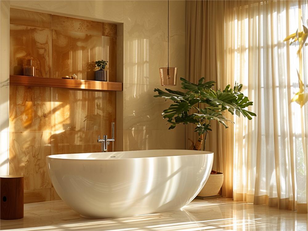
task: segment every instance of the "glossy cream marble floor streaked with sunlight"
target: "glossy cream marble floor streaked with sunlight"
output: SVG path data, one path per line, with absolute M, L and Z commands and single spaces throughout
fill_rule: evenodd
M 195 199 L 181 210 L 89 219 L 63 201 L 26 204 L 24 218 L 1 220 L 1 230 L 307 230 L 307 214 L 265 205 L 234 202 L 229 198 Z

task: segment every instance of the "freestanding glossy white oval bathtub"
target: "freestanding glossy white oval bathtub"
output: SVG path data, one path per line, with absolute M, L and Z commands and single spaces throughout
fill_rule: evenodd
M 147 150 L 47 156 L 59 196 L 84 217 L 180 209 L 209 177 L 213 152 Z

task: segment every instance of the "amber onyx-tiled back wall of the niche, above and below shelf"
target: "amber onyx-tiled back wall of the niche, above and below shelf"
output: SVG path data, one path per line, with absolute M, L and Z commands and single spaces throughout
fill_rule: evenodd
M 11 8 L 10 75 L 22 75 L 32 58 L 38 77 L 94 80 L 103 59 L 116 82 L 116 40 L 116 24 Z M 115 112 L 115 91 L 10 86 L 9 172 L 24 175 L 25 203 L 60 199 L 46 156 L 100 152 L 97 137 L 111 136 Z

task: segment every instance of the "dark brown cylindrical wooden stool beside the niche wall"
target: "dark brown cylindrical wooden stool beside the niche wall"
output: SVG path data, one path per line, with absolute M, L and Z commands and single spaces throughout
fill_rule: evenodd
M 0 219 L 23 217 L 23 176 L 0 176 Z

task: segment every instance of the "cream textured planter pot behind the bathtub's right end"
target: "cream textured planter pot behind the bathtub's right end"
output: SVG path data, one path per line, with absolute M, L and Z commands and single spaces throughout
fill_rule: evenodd
M 212 197 L 216 196 L 224 182 L 224 174 L 217 172 L 217 174 L 210 174 L 204 187 L 201 189 L 198 197 Z

